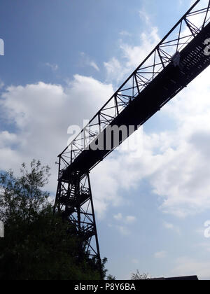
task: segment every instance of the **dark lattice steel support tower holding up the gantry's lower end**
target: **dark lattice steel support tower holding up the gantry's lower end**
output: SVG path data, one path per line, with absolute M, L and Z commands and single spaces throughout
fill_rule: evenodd
M 73 172 L 68 179 L 62 179 L 61 158 L 59 158 L 59 178 L 55 211 L 71 224 L 71 232 L 80 240 L 79 251 L 87 252 L 98 264 L 102 275 L 99 240 L 94 216 L 94 204 L 90 184 L 90 173 L 80 175 Z

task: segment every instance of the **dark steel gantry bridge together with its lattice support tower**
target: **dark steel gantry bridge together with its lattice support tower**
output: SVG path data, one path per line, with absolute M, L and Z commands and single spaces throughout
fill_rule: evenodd
M 55 211 L 71 223 L 78 235 L 79 246 L 99 264 L 90 171 L 130 136 L 130 132 L 127 136 L 120 133 L 118 144 L 113 138 L 110 142 L 106 132 L 109 127 L 126 126 L 129 130 L 134 126 L 134 130 L 138 130 L 209 66 L 210 1 L 202 9 L 197 8 L 199 2 L 196 1 L 183 15 L 58 156 Z

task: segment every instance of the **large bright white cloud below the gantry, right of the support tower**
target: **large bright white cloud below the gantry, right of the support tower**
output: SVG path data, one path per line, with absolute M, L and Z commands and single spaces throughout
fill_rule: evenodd
M 120 188 L 137 188 L 147 179 L 167 214 L 183 218 L 210 208 L 209 74 L 207 69 L 162 109 L 162 117 L 171 117 L 174 128 L 144 134 L 139 159 L 115 153 L 97 167 L 102 179 L 106 175 L 106 183 L 115 182 L 113 194 L 118 195 Z

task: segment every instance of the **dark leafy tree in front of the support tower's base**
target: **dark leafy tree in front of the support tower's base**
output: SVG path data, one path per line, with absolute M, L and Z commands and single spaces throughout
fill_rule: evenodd
M 43 190 L 50 176 L 48 166 L 33 160 L 22 165 L 21 175 L 0 174 L 1 280 L 99 279 L 99 271 L 84 252 L 78 257 L 78 240 L 67 234 L 69 224 L 52 214 L 49 193 Z

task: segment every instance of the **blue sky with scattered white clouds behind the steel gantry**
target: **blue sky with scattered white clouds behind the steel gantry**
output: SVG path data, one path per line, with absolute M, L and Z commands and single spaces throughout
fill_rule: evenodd
M 0 170 L 39 159 L 55 197 L 68 127 L 94 116 L 191 3 L 2 0 Z M 138 157 L 117 150 L 90 174 L 101 255 L 117 279 L 137 269 L 210 279 L 209 74 L 144 125 Z

